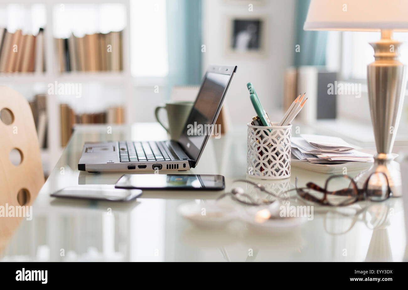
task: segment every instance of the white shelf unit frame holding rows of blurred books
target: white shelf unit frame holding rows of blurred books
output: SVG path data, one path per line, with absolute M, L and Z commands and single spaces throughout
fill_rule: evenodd
M 120 72 L 65 72 L 56 71 L 55 41 L 53 36 L 53 8 L 58 4 L 123 4 L 126 11 L 126 24 L 122 31 L 122 62 L 123 69 Z M 44 73 L 0 73 L 0 84 L 33 85 L 34 83 L 54 83 L 57 82 L 101 82 L 104 84 L 121 84 L 124 89 L 124 114 L 126 124 L 134 122 L 135 118 L 128 109 L 132 107 L 133 81 L 130 69 L 130 0 L 0 0 L 0 8 L 7 7 L 8 4 L 23 4 L 24 7 L 31 7 L 33 4 L 43 4 L 46 9 L 46 27 L 44 34 L 45 43 L 45 64 Z M 27 96 L 26 96 L 27 97 Z M 62 153 L 60 139 L 60 108 L 58 96 L 47 95 L 47 120 L 48 148 L 42 149 L 44 171 L 50 173 Z

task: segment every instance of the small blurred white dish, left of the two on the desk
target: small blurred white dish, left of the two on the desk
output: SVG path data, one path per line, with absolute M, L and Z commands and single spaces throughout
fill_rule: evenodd
M 187 202 L 178 207 L 178 212 L 196 226 L 204 228 L 221 228 L 237 217 L 235 206 L 214 201 Z

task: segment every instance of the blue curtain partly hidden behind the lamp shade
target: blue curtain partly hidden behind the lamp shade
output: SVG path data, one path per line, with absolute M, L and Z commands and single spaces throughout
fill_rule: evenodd
M 295 52 L 294 65 L 326 65 L 327 31 L 305 31 L 310 0 L 296 1 L 295 45 L 300 44 L 300 52 Z

